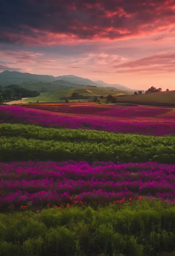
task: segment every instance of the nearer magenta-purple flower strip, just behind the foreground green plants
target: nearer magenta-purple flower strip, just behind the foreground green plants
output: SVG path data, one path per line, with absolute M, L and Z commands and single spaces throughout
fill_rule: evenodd
M 87 162 L 0 164 L 0 209 L 11 205 L 108 204 L 148 196 L 175 200 L 175 165 Z

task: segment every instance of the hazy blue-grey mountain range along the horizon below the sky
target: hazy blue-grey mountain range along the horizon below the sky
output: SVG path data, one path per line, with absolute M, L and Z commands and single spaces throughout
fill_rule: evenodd
M 21 84 L 21 83 L 38 83 L 38 82 L 47 82 L 52 84 L 59 84 L 63 86 L 82 86 L 82 85 L 91 85 L 97 87 L 111 87 L 116 88 L 119 91 L 134 91 L 131 88 L 120 84 L 110 84 L 103 81 L 92 81 L 87 78 L 82 78 L 74 75 L 63 75 L 63 76 L 52 76 L 52 75 L 36 75 L 30 73 L 21 73 L 17 71 L 3 71 L 0 73 L 0 85 L 6 86 L 10 84 Z

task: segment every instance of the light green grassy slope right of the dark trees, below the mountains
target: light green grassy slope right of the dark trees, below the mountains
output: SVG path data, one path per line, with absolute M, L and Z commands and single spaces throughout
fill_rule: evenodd
M 64 97 L 66 93 L 69 91 L 69 88 L 62 88 L 55 92 L 44 92 L 41 93 L 40 96 L 26 99 L 26 102 L 59 102 L 60 98 Z

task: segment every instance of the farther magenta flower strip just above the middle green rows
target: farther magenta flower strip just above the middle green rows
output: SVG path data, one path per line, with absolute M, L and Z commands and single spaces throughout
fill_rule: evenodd
M 109 117 L 73 116 L 19 106 L 0 106 L 0 123 L 35 124 L 44 127 L 95 129 L 115 133 L 175 135 L 175 123 L 168 120 L 116 120 Z

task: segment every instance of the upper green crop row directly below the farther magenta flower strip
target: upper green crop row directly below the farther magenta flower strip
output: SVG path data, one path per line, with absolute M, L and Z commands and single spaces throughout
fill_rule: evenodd
M 162 144 L 173 147 L 175 136 L 145 136 L 137 134 L 116 134 L 113 132 L 102 132 L 97 130 L 83 129 L 55 129 L 44 128 L 41 126 L 25 124 L 0 124 L 0 136 L 23 137 L 26 139 L 37 140 L 56 140 L 56 141 L 89 141 L 110 145 L 114 143 L 118 146 L 123 144 L 135 144 L 136 147 L 152 147 Z M 175 147 L 173 147 L 175 149 Z

